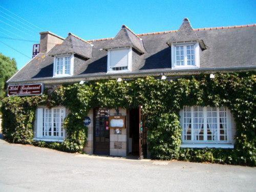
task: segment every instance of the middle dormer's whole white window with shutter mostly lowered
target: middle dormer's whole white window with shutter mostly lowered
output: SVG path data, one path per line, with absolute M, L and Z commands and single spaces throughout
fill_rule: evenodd
M 132 48 L 111 49 L 108 51 L 108 72 L 131 71 Z

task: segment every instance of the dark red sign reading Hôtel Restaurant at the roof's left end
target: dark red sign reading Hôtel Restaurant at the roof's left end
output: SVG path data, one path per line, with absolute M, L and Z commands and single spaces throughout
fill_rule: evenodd
M 20 84 L 17 86 L 8 86 L 8 96 L 41 95 L 42 91 L 43 91 L 42 83 Z

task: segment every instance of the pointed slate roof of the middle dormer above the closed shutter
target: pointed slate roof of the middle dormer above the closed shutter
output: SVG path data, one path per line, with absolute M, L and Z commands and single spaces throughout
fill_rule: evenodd
M 146 52 L 142 38 L 137 36 L 131 29 L 123 25 L 115 38 L 104 49 L 130 46 L 140 53 Z

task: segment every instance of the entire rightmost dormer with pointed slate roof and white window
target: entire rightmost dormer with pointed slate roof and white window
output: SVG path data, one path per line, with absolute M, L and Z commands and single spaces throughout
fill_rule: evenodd
M 200 55 L 206 46 L 187 18 L 167 44 L 172 50 L 172 69 L 200 68 Z

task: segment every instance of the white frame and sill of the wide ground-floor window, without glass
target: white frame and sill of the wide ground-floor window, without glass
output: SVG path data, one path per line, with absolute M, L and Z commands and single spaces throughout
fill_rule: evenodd
M 203 129 L 204 129 L 204 140 L 194 140 L 194 107 L 190 106 L 191 113 L 191 140 L 183 140 L 184 138 L 184 108 L 180 111 L 180 125 L 182 127 L 182 144 L 181 147 L 190 147 L 190 148 L 203 148 L 203 147 L 215 147 L 215 148 L 233 148 L 234 145 L 231 144 L 231 112 L 226 108 L 226 126 L 227 126 L 227 140 L 220 140 L 220 108 L 217 108 L 217 137 L 218 140 L 207 140 L 207 107 L 203 107 Z

